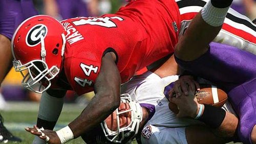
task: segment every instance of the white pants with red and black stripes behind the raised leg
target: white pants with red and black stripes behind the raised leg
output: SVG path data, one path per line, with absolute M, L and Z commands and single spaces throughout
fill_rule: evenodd
M 209 0 L 176 0 L 181 14 L 180 35 L 184 33 L 191 20 Z M 236 46 L 256 55 L 256 25 L 245 15 L 229 8 L 223 27 L 215 42 Z

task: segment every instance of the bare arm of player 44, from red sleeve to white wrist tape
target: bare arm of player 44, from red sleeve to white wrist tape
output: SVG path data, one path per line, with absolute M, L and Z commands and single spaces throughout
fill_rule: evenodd
M 95 82 L 95 96 L 83 112 L 69 124 L 74 138 L 100 124 L 120 105 L 121 78 L 111 53 L 102 57 Z

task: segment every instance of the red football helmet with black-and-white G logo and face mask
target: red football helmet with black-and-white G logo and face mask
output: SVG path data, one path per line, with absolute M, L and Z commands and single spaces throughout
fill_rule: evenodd
M 22 74 L 23 86 L 37 93 L 51 86 L 62 68 L 65 33 L 61 23 L 47 15 L 30 17 L 19 25 L 11 50 L 13 67 Z

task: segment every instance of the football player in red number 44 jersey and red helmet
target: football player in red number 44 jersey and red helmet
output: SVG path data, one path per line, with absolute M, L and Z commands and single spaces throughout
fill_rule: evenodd
M 197 29 L 204 31 L 193 34 L 202 39 L 188 41 L 191 46 L 195 42 L 203 46 L 218 34 L 231 1 L 209 3 L 226 5 L 216 12 L 220 16 L 214 18 L 217 25 L 206 23 L 212 22 L 210 15 L 203 19 L 200 13 L 196 17 Z M 204 12 L 207 9 L 204 7 Z M 174 52 L 179 29 L 179 10 L 174 1 L 132 1 L 116 14 L 61 23 L 49 16 L 27 19 L 12 39 L 13 64 L 24 76 L 25 87 L 44 92 L 37 126 L 49 130 L 26 130 L 48 143 L 65 143 L 88 132 L 119 106 L 121 83 L 135 71 Z M 78 94 L 94 89 L 95 97 L 69 126 L 51 131 L 67 89 Z

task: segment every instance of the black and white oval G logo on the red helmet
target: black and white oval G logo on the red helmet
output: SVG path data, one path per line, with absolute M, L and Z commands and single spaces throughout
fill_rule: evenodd
M 32 27 L 27 36 L 26 36 L 26 44 L 28 46 L 35 46 L 40 43 L 40 37 L 46 37 L 47 35 L 47 27 L 45 25 L 36 25 Z

